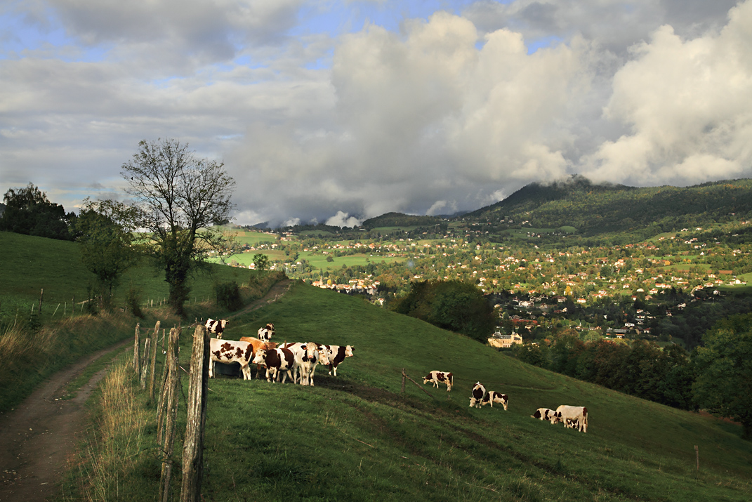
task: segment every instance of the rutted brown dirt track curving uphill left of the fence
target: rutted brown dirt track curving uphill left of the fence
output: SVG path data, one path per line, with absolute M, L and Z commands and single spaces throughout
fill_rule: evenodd
M 256 310 L 276 300 L 293 284 L 283 280 L 243 311 Z M 236 314 L 237 315 L 237 314 Z M 132 346 L 123 340 L 77 361 L 50 376 L 29 398 L 0 416 L 0 502 L 43 502 L 57 493 L 58 482 L 74 454 L 76 442 L 86 425 L 83 404 L 107 374 L 97 372 L 74 399 L 59 401 L 65 386 L 97 358 Z

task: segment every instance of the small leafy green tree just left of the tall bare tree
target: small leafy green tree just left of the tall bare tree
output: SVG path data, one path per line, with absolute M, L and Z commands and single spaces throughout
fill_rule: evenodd
M 135 246 L 138 210 L 117 201 L 86 198 L 74 228 L 81 261 L 96 276 L 102 307 L 112 304 L 113 289 L 138 256 Z

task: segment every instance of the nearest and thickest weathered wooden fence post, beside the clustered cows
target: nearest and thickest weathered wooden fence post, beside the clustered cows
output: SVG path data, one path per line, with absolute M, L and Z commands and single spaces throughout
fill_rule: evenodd
M 188 416 L 183 441 L 183 488 L 180 502 L 199 502 L 204 475 L 204 426 L 209 381 L 209 333 L 196 326 L 190 358 Z

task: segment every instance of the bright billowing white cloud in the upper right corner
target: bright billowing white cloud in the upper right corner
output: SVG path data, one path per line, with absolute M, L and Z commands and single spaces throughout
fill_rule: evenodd
M 719 34 L 662 26 L 614 76 L 605 115 L 629 126 L 584 162 L 594 180 L 698 183 L 752 174 L 752 2 Z

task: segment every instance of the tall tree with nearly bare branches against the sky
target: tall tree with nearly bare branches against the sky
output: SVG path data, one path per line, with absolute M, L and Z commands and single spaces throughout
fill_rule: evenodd
M 229 221 L 235 180 L 222 162 L 199 159 L 174 139 L 141 141 L 120 174 L 141 208 L 141 226 L 153 235 L 153 255 L 170 286 L 168 304 L 183 313 L 188 279 L 209 249 L 218 249 Z

